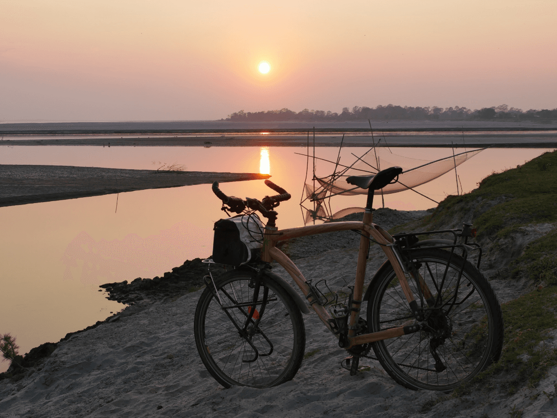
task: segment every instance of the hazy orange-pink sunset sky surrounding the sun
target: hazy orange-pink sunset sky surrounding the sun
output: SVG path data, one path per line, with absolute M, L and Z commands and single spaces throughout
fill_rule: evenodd
M 0 17 L 0 121 L 557 107 L 555 0 L 0 0 Z

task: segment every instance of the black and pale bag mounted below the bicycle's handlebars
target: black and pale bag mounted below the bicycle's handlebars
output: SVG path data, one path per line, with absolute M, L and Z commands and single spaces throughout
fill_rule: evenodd
M 213 261 L 236 267 L 250 262 L 253 250 L 263 247 L 263 228 L 256 214 L 218 220 L 213 228 Z

